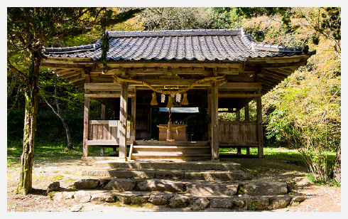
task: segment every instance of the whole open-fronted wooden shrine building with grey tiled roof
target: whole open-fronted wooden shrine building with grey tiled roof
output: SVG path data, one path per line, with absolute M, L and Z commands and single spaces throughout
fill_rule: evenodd
M 249 148 L 256 147 L 263 158 L 261 97 L 315 53 L 306 46 L 258 44 L 243 29 L 109 32 L 109 44 L 108 71 L 100 61 L 100 42 L 44 48 L 43 66 L 85 91 L 83 156 L 89 156 L 89 146 L 118 146 L 123 161 L 127 145 L 131 159 L 143 153 L 147 158 L 173 155 L 217 161 L 219 147 L 238 148 L 238 154 L 241 148 L 249 154 Z M 100 120 L 89 119 L 91 98 L 101 103 Z M 256 102 L 253 120 L 251 100 Z M 168 102 L 170 109 L 199 107 L 202 132 L 195 141 L 187 137 L 185 118 L 179 124 L 174 119 L 156 124 L 158 129 L 168 126 L 174 137 L 150 141 L 151 109 L 167 107 Z M 105 118 L 105 107 L 116 112 L 113 119 Z M 219 112 L 233 112 L 236 119 L 219 121 Z M 180 123 L 181 129 L 176 129 Z M 184 141 L 175 141 L 179 130 L 186 133 Z

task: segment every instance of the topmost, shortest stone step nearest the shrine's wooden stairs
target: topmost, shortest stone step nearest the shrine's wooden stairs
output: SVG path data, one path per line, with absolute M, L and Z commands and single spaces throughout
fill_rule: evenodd
M 190 170 L 190 171 L 234 171 L 240 170 L 241 164 L 232 162 L 141 162 L 117 160 L 96 161 L 96 169 L 133 169 L 133 170 Z

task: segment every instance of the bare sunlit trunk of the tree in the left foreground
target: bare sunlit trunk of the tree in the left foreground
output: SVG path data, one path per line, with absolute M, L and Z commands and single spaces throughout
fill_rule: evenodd
M 21 155 L 21 171 L 16 193 L 27 195 L 31 193 L 34 141 L 36 131 L 36 112 L 38 111 L 38 75 L 40 67 L 40 53 L 33 53 L 31 67 L 26 79 L 26 111 L 23 128 L 23 153 Z

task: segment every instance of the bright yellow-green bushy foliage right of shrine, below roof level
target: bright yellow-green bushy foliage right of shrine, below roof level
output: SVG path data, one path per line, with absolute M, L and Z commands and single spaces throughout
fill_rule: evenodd
M 266 138 L 298 149 L 315 180 L 328 181 L 327 153 L 341 141 L 340 62 L 320 52 L 309 63 L 311 72 L 301 68 L 266 95 Z

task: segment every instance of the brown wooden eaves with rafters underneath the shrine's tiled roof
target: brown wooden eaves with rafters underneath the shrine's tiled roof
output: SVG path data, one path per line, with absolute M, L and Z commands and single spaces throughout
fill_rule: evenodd
M 246 61 L 231 60 L 109 60 L 107 62 L 111 69 L 108 75 L 114 74 L 113 70 L 122 68 L 225 68 L 233 69 L 236 74 L 244 73 L 247 65 L 255 66 L 259 69 L 262 83 L 261 94 L 264 95 L 272 90 L 276 85 L 285 80 L 301 65 L 307 63 L 312 55 L 292 55 L 273 58 L 249 58 Z M 77 88 L 84 89 L 86 71 L 97 73 L 102 76 L 103 65 L 99 60 L 90 58 L 43 58 L 42 65 L 55 70 L 62 79 L 70 82 Z M 99 74 L 98 74 L 99 72 Z M 100 79 L 102 82 L 102 79 Z

